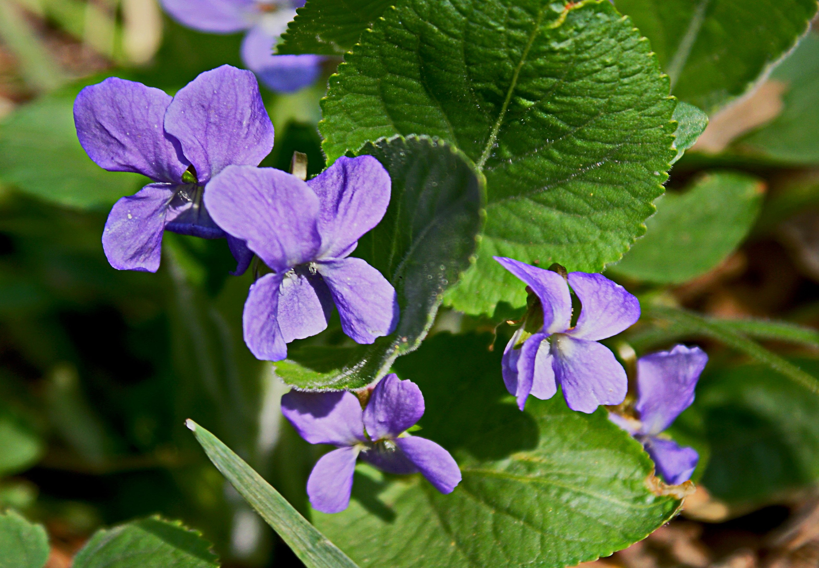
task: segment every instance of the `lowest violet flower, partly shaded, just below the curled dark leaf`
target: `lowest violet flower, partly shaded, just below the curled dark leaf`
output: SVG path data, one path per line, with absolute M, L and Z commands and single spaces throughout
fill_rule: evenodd
M 319 511 L 347 508 L 359 456 L 393 474 L 420 471 L 441 493 L 452 493 L 460 483 L 461 473 L 450 452 L 406 434 L 423 416 L 423 395 L 412 381 L 387 375 L 373 389 L 364 411 L 358 398 L 346 391 L 291 391 L 282 397 L 282 413 L 308 442 L 338 447 L 316 462 L 307 480 L 310 503 Z

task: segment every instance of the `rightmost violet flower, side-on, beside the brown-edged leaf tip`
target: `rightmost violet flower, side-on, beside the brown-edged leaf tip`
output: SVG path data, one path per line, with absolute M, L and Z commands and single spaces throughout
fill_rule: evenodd
M 690 479 L 699 455 L 694 448 L 681 448 L 672 439 L 660 438 L 658 434 L 694 402 L 697 379 L 707 362 L 708 355 L 702 349 L 685 345 L 640 357 L 635 405 L 640 420 L 609 414 L 615 424 L 640 440 L 668 484 Z

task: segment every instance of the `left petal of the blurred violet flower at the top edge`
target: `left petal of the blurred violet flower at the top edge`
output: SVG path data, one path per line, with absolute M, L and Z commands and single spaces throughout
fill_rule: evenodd
M 256 14 L 254 0 L 161 0 L 174 20 L 194 30 L 233 34 L 247 30 Z

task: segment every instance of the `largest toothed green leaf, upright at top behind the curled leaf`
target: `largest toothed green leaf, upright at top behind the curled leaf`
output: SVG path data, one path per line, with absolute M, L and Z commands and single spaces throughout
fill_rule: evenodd
M 447 302 L 522 306 L 493 255 L 602 270 L 663 192 L 675 102 L 649 44 L 606 0 L 402 0 L 330 80 L 324 150 L 428 134 L 486 175 L 477 264 Z

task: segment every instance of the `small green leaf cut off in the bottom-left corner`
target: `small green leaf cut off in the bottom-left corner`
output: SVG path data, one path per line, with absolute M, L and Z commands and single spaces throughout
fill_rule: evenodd
M 0 515 L 0 568 L 43 568 L 48 560 L 48 534 L 15 511 Z

